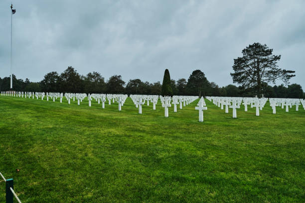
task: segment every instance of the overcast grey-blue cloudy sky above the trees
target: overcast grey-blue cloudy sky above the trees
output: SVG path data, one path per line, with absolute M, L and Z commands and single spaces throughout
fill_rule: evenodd
M 10 5 L 0 2 L 0 77 L 9 76 Z M 203 71 L 232 84 L 233 59 L 260 42 L 305 89 L 305 0 L 13 0 L 13 73 L 40 81 L 68 66 L 107 80 L 162 81 Z M 279 83 L 281 84 L 281 83 Z

